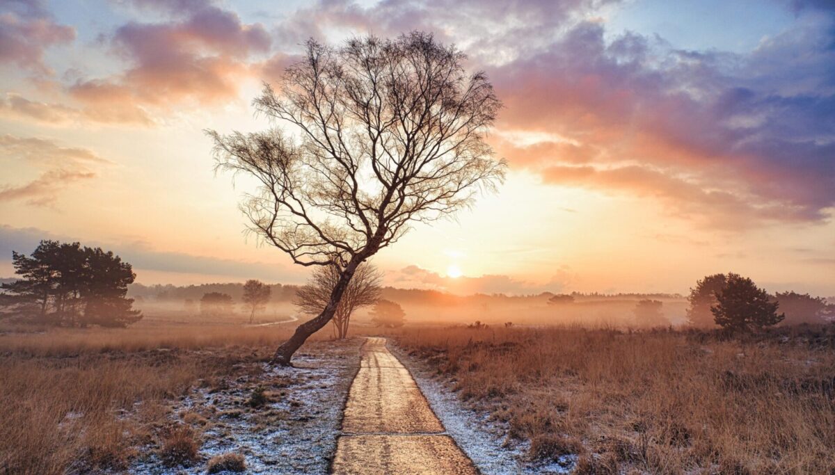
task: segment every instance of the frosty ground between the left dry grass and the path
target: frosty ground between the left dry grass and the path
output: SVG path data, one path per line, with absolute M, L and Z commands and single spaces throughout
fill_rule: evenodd
M 247 473 L 326 473 L 361 344 L 362 339 L 307 343 L 293 359 L 295 368 L 257 363 L 195 388 L 173 409 L 178 423 L 195 428 L 198 459 L 165 467 L 160 447 L 146 447 L 130 472 L 196 475 L 206 472 L 211 457 L 238 453 Z

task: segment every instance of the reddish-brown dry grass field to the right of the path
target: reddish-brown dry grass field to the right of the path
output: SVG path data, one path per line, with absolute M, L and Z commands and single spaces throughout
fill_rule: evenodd
M 563 329 L 405 330 L 459 397 L 578 473 L 835 472 L 835 327 L 745 341 Z

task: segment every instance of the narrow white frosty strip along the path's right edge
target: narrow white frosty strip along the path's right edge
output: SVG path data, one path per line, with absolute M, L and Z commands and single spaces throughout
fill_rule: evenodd
M 438 376 L 434 367 L 410 356 L 402 348 L 391 343 L 389 346 L 403 366 L 412 372 L 417 387 L 420 387 L 443 427 L 484 475 L 572 471 L 577 462 L 575 455 L 563 456 L 551 463 L 530 462 L 526 455 L 529 443 L 508 437 L 506 423 L 491 420 L 488 412 L 464 406 L 453 392 L 452 382 Z

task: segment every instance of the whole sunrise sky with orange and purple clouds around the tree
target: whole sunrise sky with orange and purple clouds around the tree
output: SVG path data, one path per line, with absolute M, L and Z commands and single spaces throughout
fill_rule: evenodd
M 41 239 L 137 281 L 301 283 L 245 235 L 203 132 L 301 43 L 454 43 L 504 109 L 497 194 L 375 264 L 457 293 L 680 292 L 737 272 L 835 295 L 835 4 L 826 0 L 0 0 L 0 276 Z

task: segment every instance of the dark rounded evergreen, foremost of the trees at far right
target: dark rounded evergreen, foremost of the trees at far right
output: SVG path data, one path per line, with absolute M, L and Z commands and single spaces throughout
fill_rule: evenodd
M 754 281 L 738 274 L 728 274 L 725 288 L 716 294 L 711 307 L 716 325 L 732 331 L 753 331 L 777 325 L 785 315 L 777 315 L 777 301 L 757 287 Z

